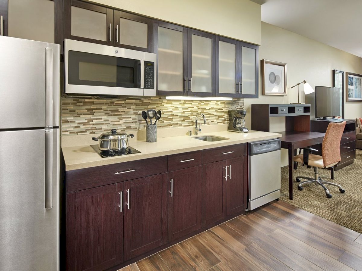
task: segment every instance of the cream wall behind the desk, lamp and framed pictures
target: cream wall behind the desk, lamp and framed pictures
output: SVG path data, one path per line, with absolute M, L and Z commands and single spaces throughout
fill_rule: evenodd
M 260 59 L 268 59 L 287 63 L 286 96 L 270 96 L 261 94 L 261 67 L 259 75 L 259 98 L 244 99 L 247 110 L 246 124 L 251 127 L 251 104 L 288 104 L 298 100 L 296 88 L 290 87 L 306 80 L 310 85 L 332 86 L 332 70 L 361 74 L 362 59 L 331 46 L 308 39 L 277 26 L 262 22 Z M 299 86 L 301 102 L 304 102 L 303 86 Z M 314 93 L 307 97 L 307 103 L 313 103 Z M 345 102 L 345 101 L 344 101 Z M 345 102 L 345 118 L 354 119 L 362 116 L 362 103 Z M 270 132 L 285 130 L 285 117 L 270 119 Z M 287 165 L 287 151 L 282 150 L 282 166 Z

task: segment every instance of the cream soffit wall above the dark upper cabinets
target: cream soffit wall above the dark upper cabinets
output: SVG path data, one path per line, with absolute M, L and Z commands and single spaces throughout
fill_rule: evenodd
M 261 6 L 249 0 L 93 0 L 159 20 L 261 43 Z

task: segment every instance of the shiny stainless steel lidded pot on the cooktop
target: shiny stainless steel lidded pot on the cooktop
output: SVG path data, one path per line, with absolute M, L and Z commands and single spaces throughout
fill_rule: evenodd
M 134 135 L 112 129 L 111 132 L 101 134 L 99 137 L 92 137 L 92 139 L 98 141 L 98 148 L 101 151 L 113 153 L 127 150 L 130 137 L 132 138 Z

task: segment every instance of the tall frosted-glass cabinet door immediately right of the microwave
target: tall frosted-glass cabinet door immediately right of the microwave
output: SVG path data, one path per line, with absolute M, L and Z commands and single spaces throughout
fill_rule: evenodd
M 187 96 L 188 29 L 155 20 L 153 52 L 157 53 L 157 95 Z

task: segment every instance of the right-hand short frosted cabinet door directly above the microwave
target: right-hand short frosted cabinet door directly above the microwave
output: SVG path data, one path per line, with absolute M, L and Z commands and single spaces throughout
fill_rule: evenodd
M 114 10 L 114 46 L 153 52 L 153 20 Z

